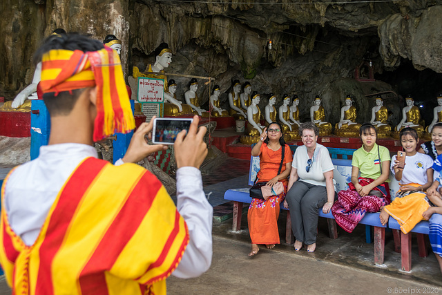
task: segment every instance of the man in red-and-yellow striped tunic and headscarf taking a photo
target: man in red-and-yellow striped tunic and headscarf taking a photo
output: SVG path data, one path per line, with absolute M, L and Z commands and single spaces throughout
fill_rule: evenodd
M 81 35 L 49 37 L 37 51 L 51 130 L 39 157 L 1 188 L 0 263 L 13 294 L 164 294 L 166 277 L 200 276 L 212 257 L 213 209 L 199 166 L 207 150 L 195 117 L 177 136 L 177 207 L 136 163 L 153 123 L 134 133 L 115 166 L 93 142 L 135 122 L 117 53 Z

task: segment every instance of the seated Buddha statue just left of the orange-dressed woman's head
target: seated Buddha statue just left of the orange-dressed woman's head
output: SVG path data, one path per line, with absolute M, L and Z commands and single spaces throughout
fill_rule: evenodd
M 242 144 L 253 144 L 260 140 L 260 135 L 264 130 L 264 126 L 260 124 L 261 111 L 258 107 L 260 95 L 253 91 L 251 94 L 251 105 L 247 108 L 247 129 L 246 135 L 240 137 Z

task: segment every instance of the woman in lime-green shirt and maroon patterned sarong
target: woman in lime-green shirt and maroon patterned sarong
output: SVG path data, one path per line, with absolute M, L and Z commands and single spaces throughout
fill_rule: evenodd
M 376 144 L 376 128 L 365 123 L 359 129 L 362 147 L 353 153 L 352 182 L 338 192 L 332 207 L 336 223 L 351 233 L 367 212 L 390 204 L 390 151 Z M 361 176 L 359 174 L 361 173 Z

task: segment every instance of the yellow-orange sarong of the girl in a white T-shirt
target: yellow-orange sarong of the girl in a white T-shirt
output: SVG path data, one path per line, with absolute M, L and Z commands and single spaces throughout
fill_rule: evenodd
M 420 186 L 420 184 L 413 183 L 409 185 Z M 385 206 L 384 209 L 401 225 L 401 231 L 407 234 L 423 220 L 422 213 L 430 207 L 426 196 L 423 191 L 407 191 L 405 193 L 398 191 L 393 202 Z

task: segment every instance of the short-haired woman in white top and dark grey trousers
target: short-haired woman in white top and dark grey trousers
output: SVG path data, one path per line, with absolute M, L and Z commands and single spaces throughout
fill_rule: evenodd
M 303 146 L 295 151 L 291 162 L 289 186 L 284 207 L 290 209 L 291 229 L 296 238 L 295 251 L 307 246 L 316 249 L 318 210 L 329 213 L 334 202 L 333 162 L 329 151 L 318 144 L 319 129 L 313 122 L 299 127 Z

